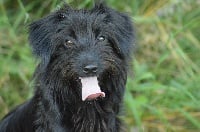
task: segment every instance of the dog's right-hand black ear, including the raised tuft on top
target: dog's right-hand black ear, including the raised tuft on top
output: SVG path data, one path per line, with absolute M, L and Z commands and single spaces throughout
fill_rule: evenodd
M 92 11 L 104 14 L 104 23 L 109 25 L 112 47 L 116 53 L 123 58 L 130 58 L 134 47 L 134 29 L 131 18 L 124 13 L 120 13 L 108 8 L 105 3 L 96 2 Z

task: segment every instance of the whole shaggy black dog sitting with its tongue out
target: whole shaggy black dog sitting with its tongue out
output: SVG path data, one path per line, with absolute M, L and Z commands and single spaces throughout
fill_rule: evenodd
M 130 18 L 98 4 L 66 6 L 30 25 L 41 59 L 32 99 L 9 113 L 0 132 L 118 132 L 128 62 Z

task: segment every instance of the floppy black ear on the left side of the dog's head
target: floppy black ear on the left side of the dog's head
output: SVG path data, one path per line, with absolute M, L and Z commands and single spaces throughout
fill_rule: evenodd
M 59 21 L 64 19 L 63 12 L 70 12 L 72 8 L 64 3 L 63 7 L 40 20 L 29 25 L 29 42 L 33 54 L 41 59 L 43 67 L 47 66 L 50 57 L 56 48 L 51 42 L 56 35 Z

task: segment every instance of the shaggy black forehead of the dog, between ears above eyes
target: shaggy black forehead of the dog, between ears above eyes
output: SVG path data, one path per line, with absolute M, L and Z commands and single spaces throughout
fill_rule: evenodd
M 66 32 L 74 32 L 76 38 L 82 38 L 90 36 L 91 34 L 97 35 L 105 23 L 106 18 L 105 13 L 94 12 L 91 10 L 73 10 L 71 12 L 66 12 L 66 19 L 64 23 L 67 23 Z

